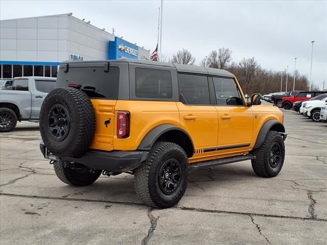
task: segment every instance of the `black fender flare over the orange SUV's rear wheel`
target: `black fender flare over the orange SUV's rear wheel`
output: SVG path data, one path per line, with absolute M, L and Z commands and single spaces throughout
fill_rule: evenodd
M 194 143 L 193 140 L 191 138 L 191 136 L 189 135 L 188 132 L 186 132 L 185 130 L 183 130 L 182 128 L 179 128 L 175 125 L 172 124 L 162 124 L 159 125 L 153 129 L 151 129 L 147 135 L 143 138 L 143 140 L 141 141 L 141 143 L 138 145 L 137 150 L 140 151 L 150 151 L 152 148 L 152 145 L 155 143 L 155 141 L 164 133 L 172 131 L 172 130 L 177 130 L 180 131 L 182 133 L 184 133 L 186 136 L 189 137 L 191 143 L 192 143 L 192 152 L 194 152 Z

